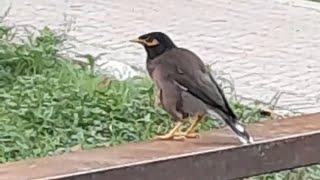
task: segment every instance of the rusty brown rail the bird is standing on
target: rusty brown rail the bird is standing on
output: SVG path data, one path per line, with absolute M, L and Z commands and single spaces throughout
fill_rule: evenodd
M 184 142 L 151 141 L 0 165 L 0 179 L 219 180 L 320 163 L 320 113 L 228 129 Z

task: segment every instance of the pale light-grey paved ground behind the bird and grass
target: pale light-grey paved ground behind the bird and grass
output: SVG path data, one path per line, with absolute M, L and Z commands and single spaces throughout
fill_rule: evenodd
M 279 107 L 309 113 L 320 111 L 320 4 L 297 2 L 13 0 L 6 22 L 67 27 L 73 51 L 143 68 L 145 52 L 128 39 L 160 30 L 230 74 L 239 96 L 282 93 Z

